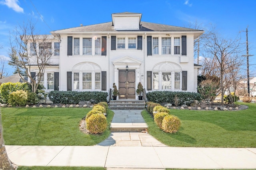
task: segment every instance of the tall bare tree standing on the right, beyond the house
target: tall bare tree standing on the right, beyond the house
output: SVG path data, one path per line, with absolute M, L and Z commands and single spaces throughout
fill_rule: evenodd
M 215 27 L 212 27 L 210 36 L 208 37 L 207 45 L 204 51 L 212 58 L 212 61 L 216 61 L 216 73 L 220 76 L 220 90 L 221 90 L 221 104 L 224 101 L 224 90 L 226 89 L 228 82 L 228 75 L 231 70 L 235 70 L 241 66 L 241 55 L 243 45 L 240 43 L 240 37 L 235 39 L 225 39 L 218 35 Z

